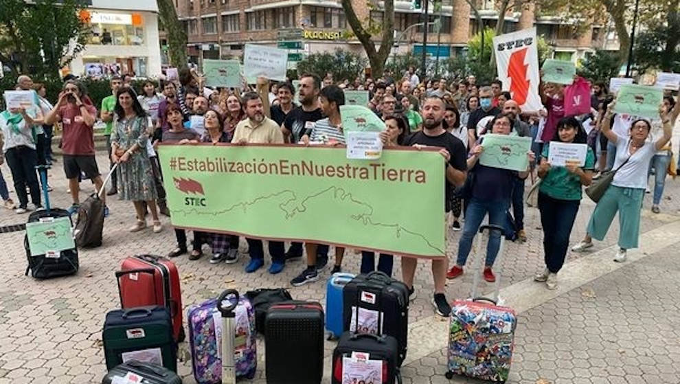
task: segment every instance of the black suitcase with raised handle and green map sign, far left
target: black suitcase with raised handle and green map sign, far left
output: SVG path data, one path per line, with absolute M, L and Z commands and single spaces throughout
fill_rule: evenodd
M 47 166 L 38 166 L 40 172 L 41 182 L 43 185 L 43 199 L 45 203 L 45 210 L 32 212 L 28 216 L 28 223 L 38 223 L 40 221 L 49 220 L 49 218 L 69 218 L 71 227 L 73 221 L 66 210 L 59 208 L 52 208 L 49 205 L 49 194 L 47 193 Z M 54 232 L 54 231 L 52 231 Z M 71 232 L 72 233 L 72 232 Z M 57 278 L 59 276 L 73 275 L 78 272 L 78 249 L 65 249 L 58 253 L 38 254 L 32 256 L 31 247 L 28 243 L 28 236 L 23 239 L 23 247 L 26 250 L 26 258 L 28 259 L 28 266 L 26 267 L 25 275 L 31 272 L 31 275 L 36 279 Z

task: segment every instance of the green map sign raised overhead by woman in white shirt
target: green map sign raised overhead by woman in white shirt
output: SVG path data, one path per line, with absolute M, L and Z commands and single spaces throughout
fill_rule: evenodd
M 653 119 L 659 117 L 659 106 L 662 100 L 664 100 L 664 91 L 659 87 L 624 84 L 616 95 L 614 112 Z

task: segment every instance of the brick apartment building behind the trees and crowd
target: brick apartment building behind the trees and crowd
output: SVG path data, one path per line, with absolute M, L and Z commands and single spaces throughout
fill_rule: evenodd
M 341 0 L 174 0 L 179 19 L 188 36 L 188 54 L 194 63 L 203 58 L 239 57 L 247 43 L 289 49 L 289 62 L 305 54 L 341 47 L 363 53 L 356 38 L 348 32 Z M 360 20 L 382 23 L 383 1 L 369 7 L 366 0 L 352 0 Z M 431 4 L 432 5 L 432 4 Z M 466 0 L 444 0 L 431 14 L 424 49 L 440 58 L 464 52 L 466 44 L 479 30 L 475 12 Z M 498 12 L 495 1 L 477 0 L 477 10 L 485 26 L 495 27 Z M 412 1 L 395 1 L 395 45 L 397 53 L 422 52 L 424 15 Z M 436 20 L 440 19 L 438 23 Z M 504 30 L 512 32 L 536 25 L 552 47 L 556 58 L 578 60 L 594 49 L 617 49 L 613 28 L 593 24 L 585 31 L 560 18 L 538 12 L 532 4 L 521 12 L 506 14 Z M 379 41 L 379 36 L 376 36 Z

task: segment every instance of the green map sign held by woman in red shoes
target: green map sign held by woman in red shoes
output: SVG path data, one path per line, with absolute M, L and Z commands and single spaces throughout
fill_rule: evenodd
M 484 152 L 479 157 L 482 166 L 525 171 L 529 166 L 527 153 L 531 137 L 497 135 L 488 133 L 481 142 Z

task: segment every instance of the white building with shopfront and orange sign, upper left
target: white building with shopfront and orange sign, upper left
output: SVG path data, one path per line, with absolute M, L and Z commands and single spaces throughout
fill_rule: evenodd
M 80 17 L 90 24 L 84 51 L 70 64 L 78 76 L 161 73 L 158 8 L 155 0 L 92 0 Z

